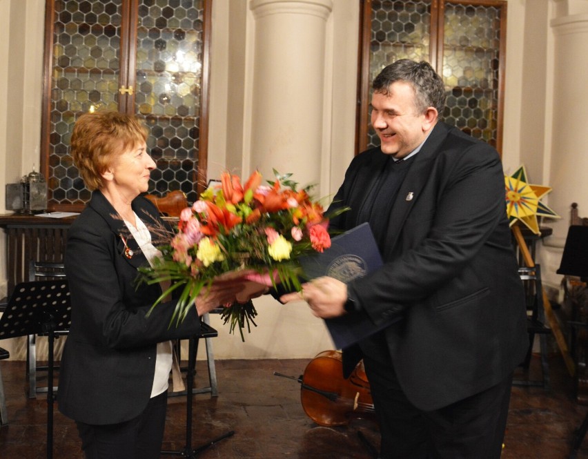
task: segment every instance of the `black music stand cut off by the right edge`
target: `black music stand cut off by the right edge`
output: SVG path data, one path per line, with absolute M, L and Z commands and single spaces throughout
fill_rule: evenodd
M 570 226 L 565 240 L 564 251 L 558 274 L 580 277 L 582 282 L 588 281 L 588 226 Z M 582 322 L 570 322 L 574 326 L 586 326 Z M 578 371 L 576 369 L 576 371 Z M 569 459 L 576 459 L 582 440 L 588 431 L 588 413 L 580 427 L 576 429 Z

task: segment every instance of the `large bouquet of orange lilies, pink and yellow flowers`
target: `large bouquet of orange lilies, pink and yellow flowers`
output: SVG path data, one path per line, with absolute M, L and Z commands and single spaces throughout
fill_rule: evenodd
M 257 282 L 300 290 L 299 257 L 331 246 L 323 208 L 300 191 L 291 174 L 273 171 L 275 181 L 262 184 L 255 172 L 242 184 L 237 175 L 222 174 L 221 184 L 211 186 L 192 207 L 185 208 L 168 245 L 159 247 L 163 257 L 153 267 L 141 268 L 142 280 L 170 282 L 155 307 L 179 289 L 172 322 L 182 322 L 195 298 L 213 282 Z M 239 300 L 239 295 L 237 295 Z M 235 302 L 222 310 L 230 332 L 255 324 L 257 311 L 251 301 Z

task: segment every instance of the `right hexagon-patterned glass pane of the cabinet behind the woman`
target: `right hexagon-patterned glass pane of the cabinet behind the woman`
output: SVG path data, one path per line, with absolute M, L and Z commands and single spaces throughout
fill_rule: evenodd
M 197 199 L 203 0 L 142 0 L 135 104 L 150 128 L 157 170 L 150 193 L 182 190 Z

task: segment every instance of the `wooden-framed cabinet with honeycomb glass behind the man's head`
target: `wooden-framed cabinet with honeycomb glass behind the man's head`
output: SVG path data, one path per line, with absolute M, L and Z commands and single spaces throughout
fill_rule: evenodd
M 363 0 L 357 153 L 379 144 L 369 126 L 371 82 L 398 59 L 428 61 L 442 76 L 442 119 L 502 148 L 507 2 Z

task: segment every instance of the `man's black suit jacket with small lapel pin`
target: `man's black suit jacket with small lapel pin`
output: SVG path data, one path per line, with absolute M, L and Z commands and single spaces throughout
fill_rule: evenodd
M 373 148 L 353 159 L 331 204 L 351 211 L 335 228 L 362 223 L 384 157 Z M 439 121 L 411 161 L 380 246 L 384 266 L 349 288 L 376 324 L 402 317 L 384 332 L 388 351 L 406 396 L 429 411 L 506 378 L 529 340 L 498 153 Z M 362 357 L 357 346 L 343 354 L 346 372 Z

